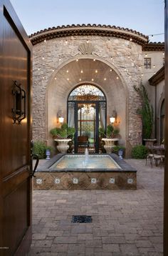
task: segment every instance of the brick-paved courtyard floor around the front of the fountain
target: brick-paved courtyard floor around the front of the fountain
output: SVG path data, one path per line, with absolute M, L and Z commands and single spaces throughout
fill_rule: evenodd
M 33 241 L 28 256 L 162 256 L 164 169 L 137 169 L 137 190 L 33 192 Z M 72 223 L 91 215 L 92 223 Z

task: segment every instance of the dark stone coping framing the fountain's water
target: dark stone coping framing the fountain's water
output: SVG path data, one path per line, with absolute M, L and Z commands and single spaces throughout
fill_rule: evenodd
M 124 159 L 120 159 L 120 157 L 117 156 L 117 154 L 104 154 L 109 155 L 112 157 L 112 159 L 117 162 L 117 164 L 120 166 L 121 169 L 59 169 L 54 170 L 50 169 L 50 167 L 55 164 L 61 157 L 63 157 L 65 154 L 56 154 L 56 156 L 49 159 L 47 162 L 42 164 L 40 167 L 37 168 L 36 172 L 137 172 L 135 168 L 133 168 L 130 164 L 127 164 Z M 69 154 L 73 155 L 73 154 Z M 84 154 L 78 154 L 78 155 L 84 155 Z

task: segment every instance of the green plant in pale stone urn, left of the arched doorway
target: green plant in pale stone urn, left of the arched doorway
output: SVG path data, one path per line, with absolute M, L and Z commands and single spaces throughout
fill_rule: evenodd
M 68 124 L 62 124 L 61 128 L 55 127 L 50 132 L 53 135 L 53 139 L 57 142 L 58 152 L 66 153 L 72 142 L 75 128 L 68 127 Z

